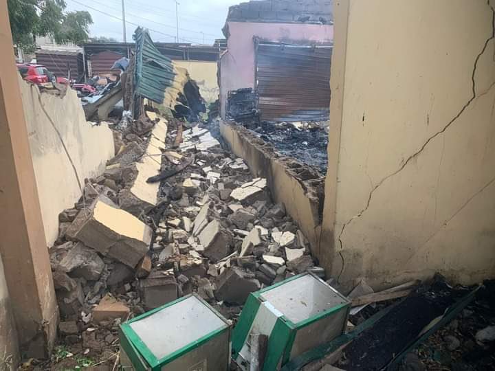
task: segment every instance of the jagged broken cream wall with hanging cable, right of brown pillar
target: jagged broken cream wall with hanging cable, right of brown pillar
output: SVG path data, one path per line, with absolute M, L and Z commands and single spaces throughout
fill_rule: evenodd
M 19 85 L 50 247 L 58 236 L 58 214 L 74 207 L 84 180 L 102 174 L 107 160 L 113 157 L 113 135 L 107 124 L 96 126 L 86 121 L 76 91 L 69 89 L 60 98 L 40 93 L 36 85 L 20 77 Z

